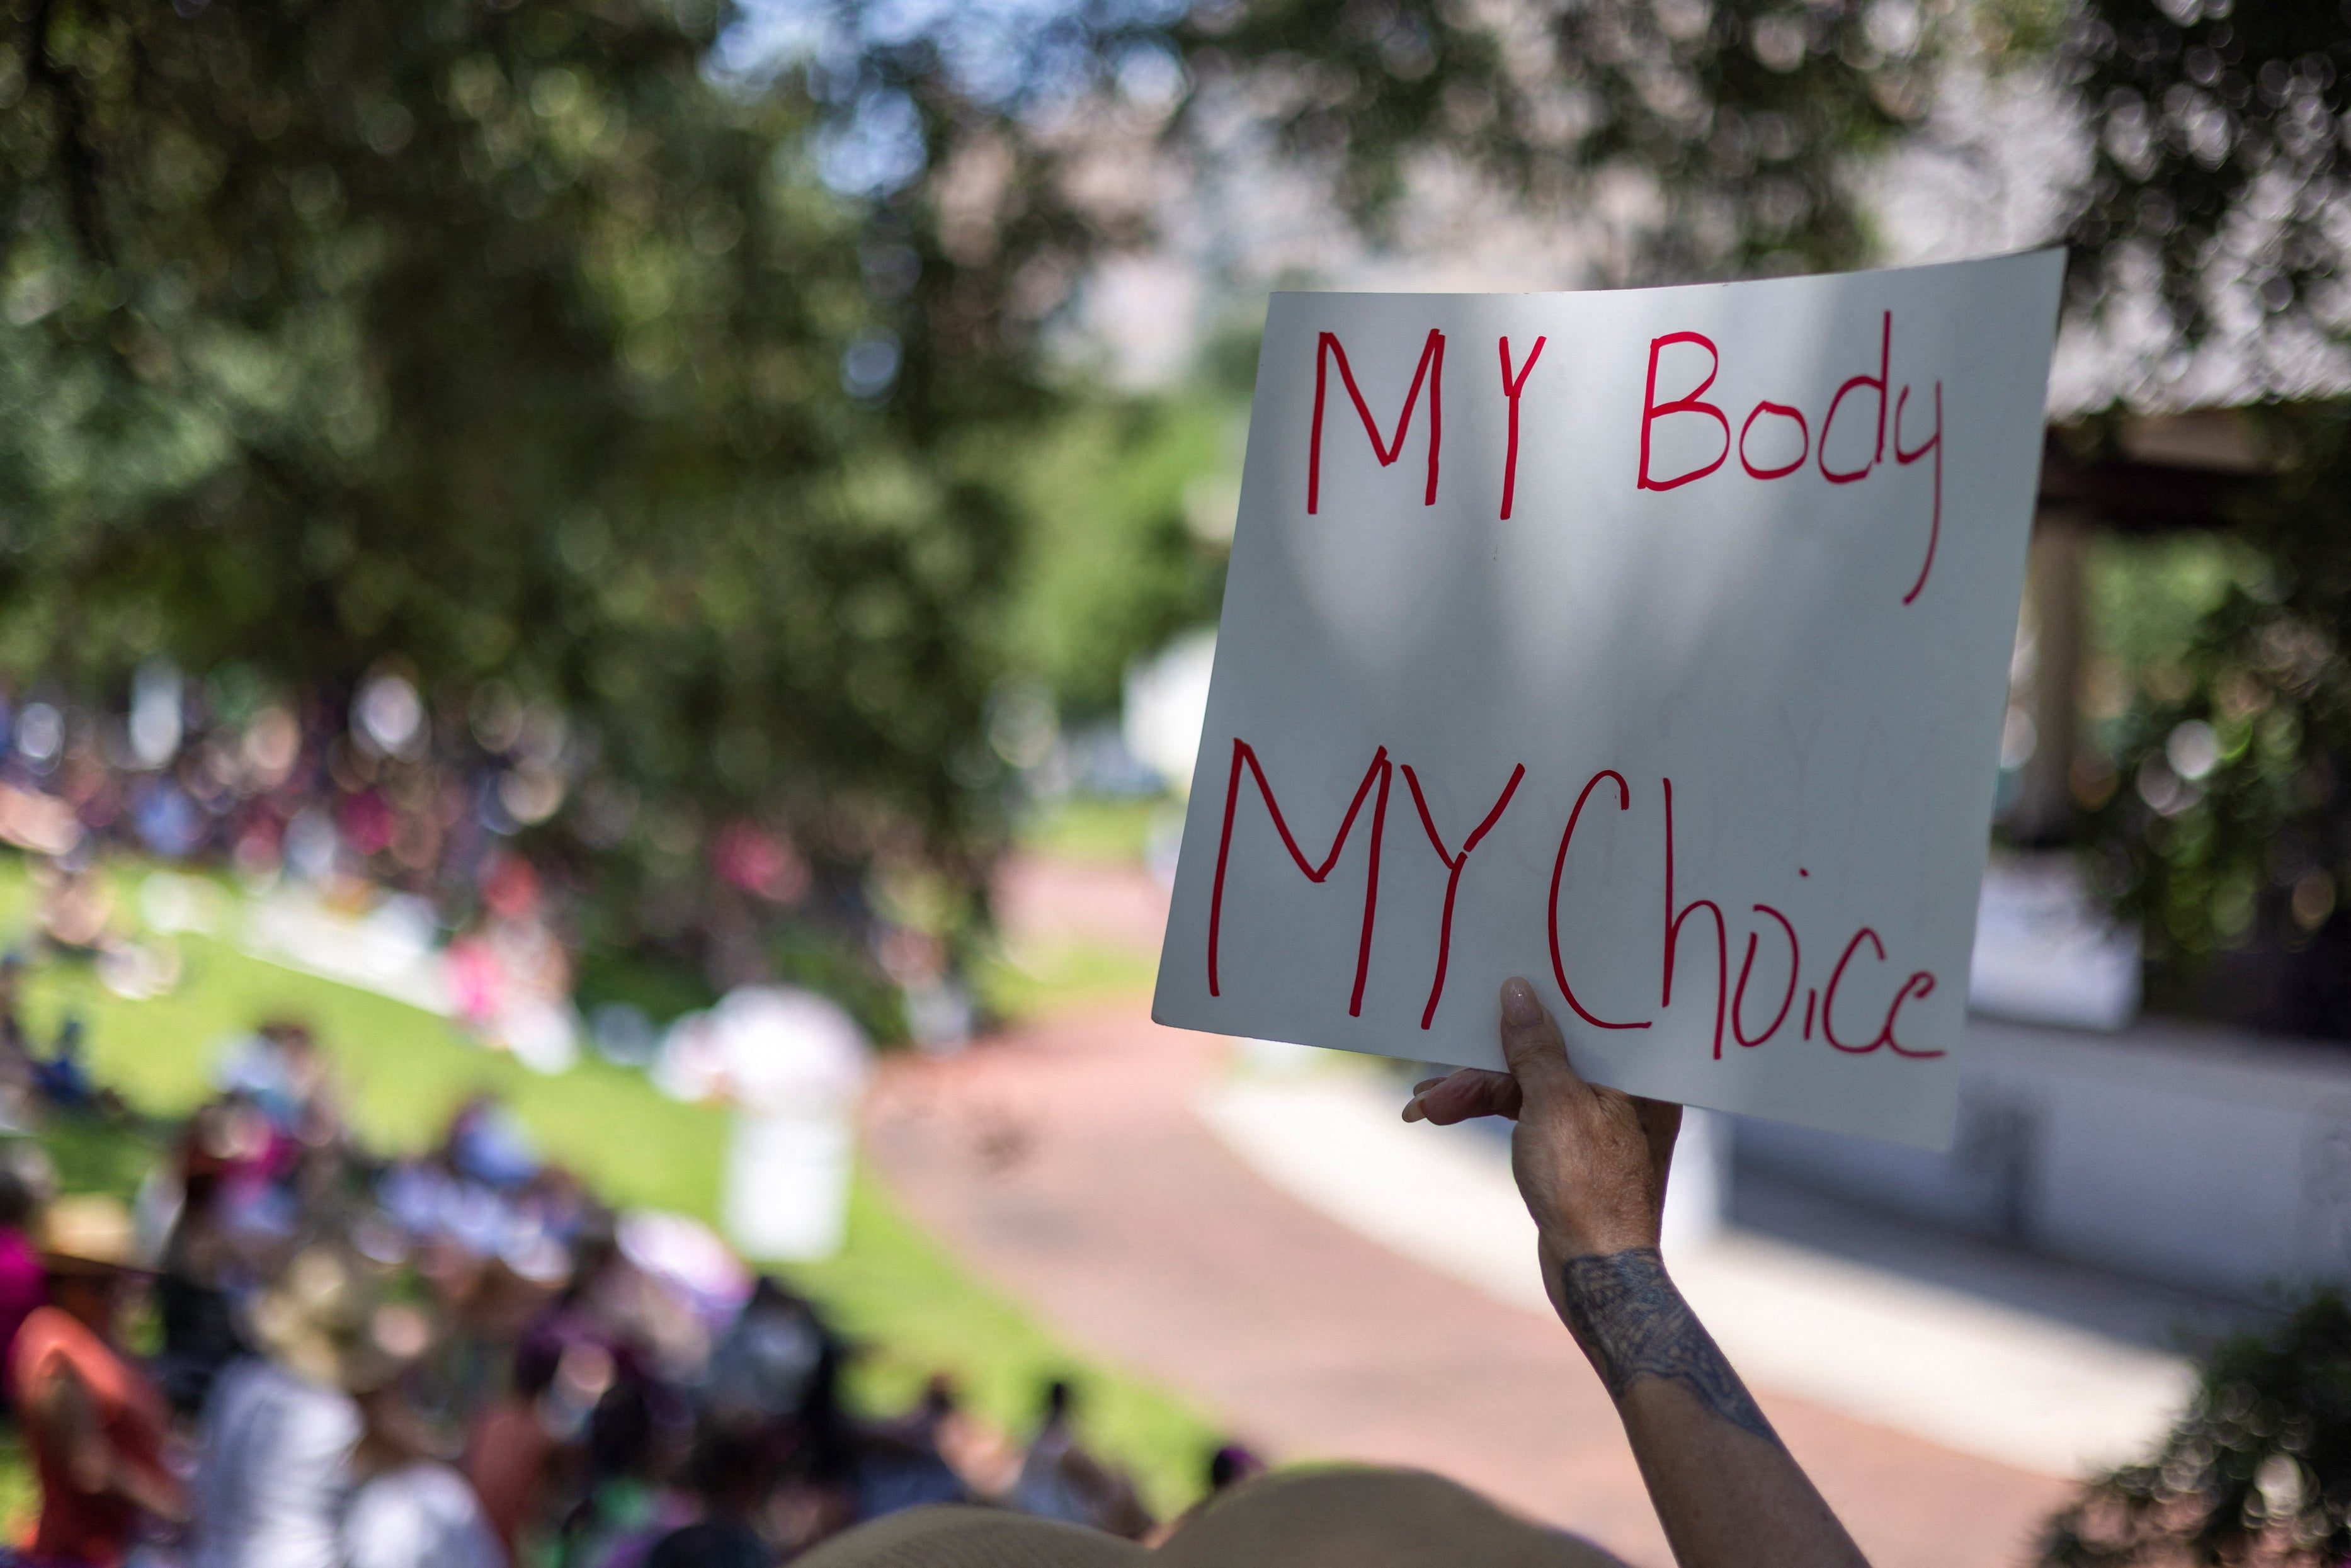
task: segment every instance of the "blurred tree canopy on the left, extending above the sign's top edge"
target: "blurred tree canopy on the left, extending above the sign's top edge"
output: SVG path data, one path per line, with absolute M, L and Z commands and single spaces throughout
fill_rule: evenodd
M 1921 56 L 1883 5 L 788 16 L 14 0 L 7 668 L 390 656 L 567 703 L 639 795 L 962 849 L 1041 331 L 1147 230 L 1072 176 L 1093 132 L 1255 94 L 1366 221 L 1439 150 L 1523 195 L 1632 167 L 1650 254 L 1799 266 L 1857 249 L 1836 160 Z

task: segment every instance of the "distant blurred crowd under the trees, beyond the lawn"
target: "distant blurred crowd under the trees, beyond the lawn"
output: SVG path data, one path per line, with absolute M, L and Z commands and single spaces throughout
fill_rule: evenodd
M 973 999 L 936 922 L 889 912 L 926 907 L 919 898 L 877 893 L 863 875 L 820 877 L 773 820 L 703 820 L 689 802 L 644 809 L 600 762 L 592 729 L 503 682 L 437 689 L 428 703 L 414 672 L 386 661 L 355 691 L 289 701 L 240 665 L 190 677 L 158 658 L 127 712 L 0 686 L 0 844 L 31 856 L 45 940 L 92 957 L 125 997 L 179 978 L 172 943 L 139 940 L 141 924 L 202 929 L 193 907 L 146 896 L 136 914 L 125 907 L 108 858 L 127 853 L 228 867 L 254 900 L 287 905 L 270 945 L 310 969 L 320 945 L 350 961 L 355 938 L 374 966 L 430 954 L 435 1006 L 543 1072 L 583 1044 L 625 1058 L 654 1030 L 616 999 L 597 1009 L 611 1018 L 574 1011 L 583 926 L 628 931 L 729 990 L 773 976 L 788 922 L 795 952 L 837 964 L 891 1034 L 903 1023 L 931 1046 L 971 1037 Z M 604 875 L 623 865 L 654 870 Z M 320 912 L 367 929 L 287 924 Z

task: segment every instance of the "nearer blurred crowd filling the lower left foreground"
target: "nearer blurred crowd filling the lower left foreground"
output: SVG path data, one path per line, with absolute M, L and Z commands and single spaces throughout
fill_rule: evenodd
M 35 1114 L 127 1117 L 14 1027 L 0 1058 Z M 49 1199 L 40 1145 L 7 1145 L 0 1392 L 40 1512 L 0 1563 L 752 1568 L 955 1500 L 1152 1530 L 1070 1385 L 1025 1443 L 947 1380 L 858 1418 L 811 1300 L 694 1220 L 600 1206 L 496 1103 L 379 1159 L 292 1023 L 216 1088 L 134 1204 Z

